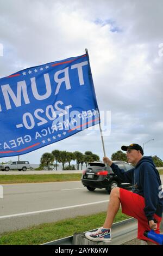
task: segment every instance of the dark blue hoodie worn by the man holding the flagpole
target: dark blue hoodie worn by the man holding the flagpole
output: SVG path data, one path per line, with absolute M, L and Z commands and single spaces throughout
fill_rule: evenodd
M 161 194 L 161 180 L 155 168 L 152 157 L 142 157 L 135 168 L 124 171 L 114 163 L 111 169 L 122 180 L 133 184 L 133 192 L 145 198 L 145 215 L 148 221 L 154 219 L 154 213 L 162 217 L 163 198 Z M 160 195 L 160 197 L 159 197 Z

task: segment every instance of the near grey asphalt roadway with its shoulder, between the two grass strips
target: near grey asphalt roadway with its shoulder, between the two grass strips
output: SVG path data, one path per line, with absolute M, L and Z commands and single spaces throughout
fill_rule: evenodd
M 88 191 L 80 181 L 4 184 L 0 233 L 106 211 L 105 189 Z

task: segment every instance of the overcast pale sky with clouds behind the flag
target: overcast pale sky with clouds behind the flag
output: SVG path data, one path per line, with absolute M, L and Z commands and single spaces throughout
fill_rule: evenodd
M 111 111 L 106 155 L 154 139 L 145 155 L 163 159 L 162 10 L 162 0 L 0 0 L 0 77 L 87 48 L 99 110 Z M 55 149 L 103 157 L 99 131 L 84 130 L 20 159 L 39 163 Z

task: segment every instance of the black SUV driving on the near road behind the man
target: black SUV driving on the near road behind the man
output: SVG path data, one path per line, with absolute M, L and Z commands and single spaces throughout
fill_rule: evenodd
M 133 168 L 123 161 L 112 161 L 118 165 L 120 169 L 128 171 Z M 103 162 L 89 163 L 86 170 L 83 171 L 82 183 L 90 191 L 94 191 L 96 188 L 105 188 L 109 193 L 112 188 L 115 187 L 130 187 L 130 183 L 125 183 L 112 171 L 110 166 L 105 166 Z

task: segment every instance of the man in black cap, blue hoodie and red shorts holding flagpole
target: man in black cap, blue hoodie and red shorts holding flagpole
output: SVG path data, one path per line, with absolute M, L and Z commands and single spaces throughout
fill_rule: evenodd
M 131 144 L 121 148 L 127 151 L 127 160 L 135 166 L 133 169 L 124 171 L 108 157 L 104 157 L 103 161 L 118 177 L 133 184 L 132 192 L 123 188 L 113 188 L 103 227 L 92 233 L 87 232 L 85 236 L 92 241 L 111 241 L 111 226 L 121 204 L 122 212 L 138 221 L 137 238 L 147 241 L 148 245 L 156 245 L 156 242 L 144 236 L 144 231 L 153 229 L 155 233 L 160 233 L 163 197 L 160 193 L 159 172 L 152 157 L 143 157 L 140 145 Z

